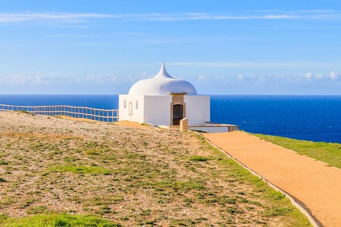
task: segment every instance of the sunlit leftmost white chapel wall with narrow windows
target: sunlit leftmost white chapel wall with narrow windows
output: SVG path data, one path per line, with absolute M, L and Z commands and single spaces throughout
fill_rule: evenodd
M 126 100 L 126 108 L 124 108 Z M 136 101 L 138 108 L 136 109 Z M 132 102 L 133 114 L 129 115 L 129 102 Z M 131 121 L 143 123 L 144 95 L 119 95 L 118 100 L 118 121 Z

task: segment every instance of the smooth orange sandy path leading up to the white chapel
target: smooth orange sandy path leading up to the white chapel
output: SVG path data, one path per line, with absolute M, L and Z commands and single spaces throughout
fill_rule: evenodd
M 341 169 L 241 131 L 202 135 L 296 197 L 323 226 L 341 226 Z

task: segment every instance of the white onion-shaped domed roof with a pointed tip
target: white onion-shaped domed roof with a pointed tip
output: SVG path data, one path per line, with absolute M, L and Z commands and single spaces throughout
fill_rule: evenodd
M 134 83 L 129 95 L 169 95 L 169 93 L 187 93 L 197 95 L 194 86 L 182 79 L 175 79 L 168 74 L 165 63 L 162 63 L 160 72 L 149 79 L 142 79 Z

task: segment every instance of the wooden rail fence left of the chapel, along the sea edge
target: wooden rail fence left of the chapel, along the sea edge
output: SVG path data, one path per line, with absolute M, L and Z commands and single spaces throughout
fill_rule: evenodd
M 0 104 L 0 111 L 27 111 L 35 115 L 67 116 L 94 121 L 117 122 L 118 109 L 96 109 L 81 106 L 53 105 L 53 106 L 15 106 Z

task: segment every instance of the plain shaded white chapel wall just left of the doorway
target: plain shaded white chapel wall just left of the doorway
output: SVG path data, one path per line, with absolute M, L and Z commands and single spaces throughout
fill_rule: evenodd
M 144 96 L 144 122 L 156 125 L 170 125 L 170 104 L 172 96 Z

